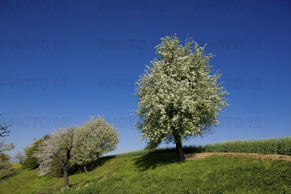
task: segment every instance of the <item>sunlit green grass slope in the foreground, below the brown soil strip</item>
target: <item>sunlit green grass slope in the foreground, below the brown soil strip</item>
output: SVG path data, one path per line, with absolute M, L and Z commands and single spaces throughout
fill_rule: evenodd
M 79 194 L 291 194 L 291 162 L 261 162 L 234 156 L 174 162 L 175 153 L 104 159 L 92 171 L 69 177 Z M 0 182 L 1 194 L 49 194 L 62 190 L 63 179 L 37 177 L 16 169 Z

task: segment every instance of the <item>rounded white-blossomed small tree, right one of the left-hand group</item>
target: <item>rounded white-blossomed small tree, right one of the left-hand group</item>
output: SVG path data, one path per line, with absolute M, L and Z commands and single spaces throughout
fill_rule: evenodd
M 116 129 L 105 122 L 103 117 L 90 117 L 76 130 L 71 164 L 81 165 L 87 173 L 86 165 L 95 162 L 100 156 L 111 152 L 119 143 Z

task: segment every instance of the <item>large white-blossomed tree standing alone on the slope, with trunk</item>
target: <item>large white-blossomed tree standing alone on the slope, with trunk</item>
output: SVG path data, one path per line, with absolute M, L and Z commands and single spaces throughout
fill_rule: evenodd
M 213 131 L 227 106 L 227 92 L 218 82 L 222 74 L 212 73 L 213 55 L 204 53 L 206 45 L 199 48 L 187 37 L 183 46 L 176 34 L 161 41 L 157 57 L 136 83 L 137 128 L 152 144 L 175 143 L 183 161 L 183 140 Z

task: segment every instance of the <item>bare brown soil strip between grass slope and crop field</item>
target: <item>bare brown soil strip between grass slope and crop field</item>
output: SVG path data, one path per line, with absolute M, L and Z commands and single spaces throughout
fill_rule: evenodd
M 259 161 L 287 161 L 291 162 L 291 156 L 279 155 L 279 154 L 256 154 L 256 153 L 193 153 L 185 155 L 186 161 L 193 161 L 198 159 L 208 158 L 210 156 L 223 156 L 227 158 L 232 158 L 236 156 L 249 157 Z

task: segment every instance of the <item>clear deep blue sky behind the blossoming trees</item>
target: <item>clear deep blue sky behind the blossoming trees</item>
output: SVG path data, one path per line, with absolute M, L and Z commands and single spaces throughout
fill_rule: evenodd
M 12 124 L 11 155 L 93 114 L 115 123 L 113 153 L 143 148 L 130 129 L 132 83 L 174 33 L 209 44 L 231 104 L 213 134 L 184 145 L 291 135 L 290 1 L 33 2 L 0 1 L 0 113 Z

